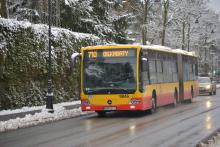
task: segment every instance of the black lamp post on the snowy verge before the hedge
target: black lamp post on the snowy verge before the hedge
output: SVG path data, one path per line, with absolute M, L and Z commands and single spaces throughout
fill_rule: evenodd
M 53 90 L 52 90 L 52 64 L 51 64 L 51 0 L 48 0 L 48 39 L 49 39 L 49 59 L 48 59 L 48 91 L 47 91 L 47 102 L 46 102 L 46 109 L 48 112 L 53 113 Z

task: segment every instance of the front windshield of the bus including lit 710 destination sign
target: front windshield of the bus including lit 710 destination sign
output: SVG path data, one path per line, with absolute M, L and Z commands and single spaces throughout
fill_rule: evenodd
M 84 92 L 119 94 L 136 91 L 136 50 L 86 51 Z

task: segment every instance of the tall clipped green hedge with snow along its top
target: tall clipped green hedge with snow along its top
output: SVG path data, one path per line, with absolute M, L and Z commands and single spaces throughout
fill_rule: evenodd
M 48 26 L 0 18 L 0 109 L 41 105 L 47 91 Z M 101 42 L 91 34 L 52 28 L 54 101 L 78 98 L 78 68 L 70 57 Z

